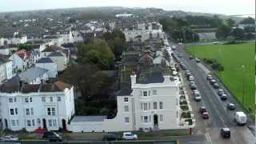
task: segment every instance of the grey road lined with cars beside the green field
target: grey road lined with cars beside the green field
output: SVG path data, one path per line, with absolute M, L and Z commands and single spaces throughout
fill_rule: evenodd
M 184 45 L 178 46 L 178 49 L 174 50 L 174 53 L 182 55 L 181 61 L 186 64 L 187 69 L 190 70 L 190 72 L 194 75 L 198 90 L 202 94 L 202 101 L 198 102 L 197 104 L 192 104 L 192 107 L 194 107 L 194 113 L 198 112 L 199 106 L 206 106 L 206 109 L 210 113 L 209 120 L 199 120 L 199 122 L 203 123 L 204 126 L 200 126 L 200 124 L 198 124 L 195 129 L 199 130 L 201 133 L 205 133 L 207 140 L 212 143 L 255 144 L 256 141 L 254 134 L 252 134 L 247 127 L 255 127 L 254 122 L 249 119 L 247 126 L 237 126 L 234 122 L 234 111 L 226 109 L 226 104 L 228 102 L 232 102 L 237 106 L 236 111 L 242 110 L 241 106 L 238 105 L 238 102 L 234 100 L 233 96 L 231 96 L 228 90 L 226 90 L 221 84 L 221 88 L 225 90 L 228 95 L 228 100 L 226 102 L 222 102 L 222 100 L 218 97 L 217 90 L 210 86 L 210 83 L 206 80 L 206 74 L 209 72 L 209 70 L 201 63 L 190 60 L 189 54 L 186 53 Z M 193 98 L 191 98 L 191 100 L 192 99 Z M 206 129 L 204 130 L 203 127 Z M 230 139 L 223 139 L 220 137 L 219 130 L 222 127 L 230 128 Z M 198 131 L 195 131 L 195 133 L 197 132 Z

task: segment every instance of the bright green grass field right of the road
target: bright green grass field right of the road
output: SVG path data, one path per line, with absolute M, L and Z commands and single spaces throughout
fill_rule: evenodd
M 246 110 L 255 110 L 255 43 L 236 45 L 197 45 L 186 49 L 198 58 L 214 58 L 224 66 L 224 71 L 218 73 L 218 78 L 230 89 L 242 103 L 243 78 L 245 77 L 245 101 L 242 104 Z M 242 70 L 245 66 L 245 75 Z

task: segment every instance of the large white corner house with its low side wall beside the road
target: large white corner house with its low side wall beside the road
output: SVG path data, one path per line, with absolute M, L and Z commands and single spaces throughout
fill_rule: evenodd
M 151 77 L 138 82 L 132 74 L 131 87 L 122 89 L 117 97 L 118 113 L 106 116 L 75 116 L 67 129 L 72 132 L 112 132 L 130 130 L 189 129 L 179 109 L 180 82 L 155 71 Z

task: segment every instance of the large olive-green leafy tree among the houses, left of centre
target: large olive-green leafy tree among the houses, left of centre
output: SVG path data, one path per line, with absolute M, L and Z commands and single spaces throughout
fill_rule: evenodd
M 94 38 L 88 44 L 78 45 L 78 62 L 93 63 L 102 70 L 110 70 L 114 54 L 105 40 Z

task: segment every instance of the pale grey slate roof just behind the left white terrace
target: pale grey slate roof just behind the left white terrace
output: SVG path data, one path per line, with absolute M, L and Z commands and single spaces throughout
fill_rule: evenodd
M 21 78 L 22 81 L 25 82 L 32 82 L 35 78 L 40 77 L 42 74 L 47 73 L 48 70 L 42 69 L 41 67 L 31 67 L 30 69 L 27 69 L 26 71 L 22 72 L 21 74 L 18 74 L 19 78 Z

